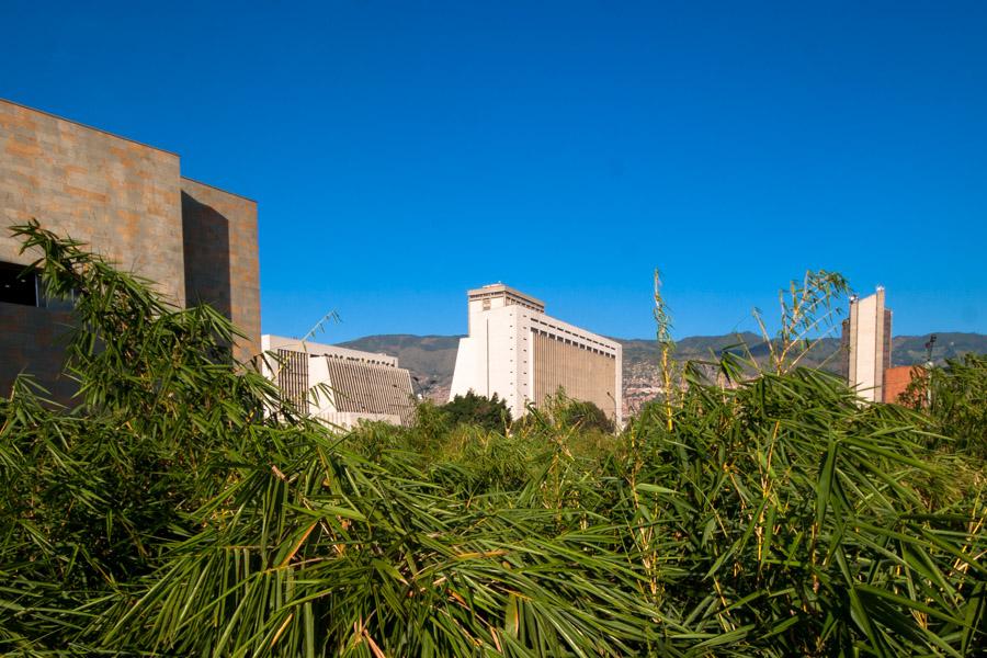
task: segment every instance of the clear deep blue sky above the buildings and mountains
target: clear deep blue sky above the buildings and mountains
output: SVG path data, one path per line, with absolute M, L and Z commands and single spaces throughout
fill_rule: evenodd
M 987 332 L 987 2 L 0 3 L 0 97 L 260 203 L 263 329 L 458 333 L 503 281 L 617 337 L 807 268 Z

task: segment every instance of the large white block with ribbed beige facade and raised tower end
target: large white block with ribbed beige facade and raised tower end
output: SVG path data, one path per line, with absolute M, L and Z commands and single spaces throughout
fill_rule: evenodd
M 503 284 L 467 293 L 450 399 L 469 390 L 507 401 L 514 418 L 559 388 L 623 421 L 620 343 L 545 315 L 541 300 Z

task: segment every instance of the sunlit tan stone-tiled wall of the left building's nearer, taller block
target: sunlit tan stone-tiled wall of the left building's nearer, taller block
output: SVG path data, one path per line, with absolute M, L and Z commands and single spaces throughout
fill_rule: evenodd
M 36 218 L 185 302 L 179 157 L 0 101 L 0 261 L 30 263 L 5 230 Z

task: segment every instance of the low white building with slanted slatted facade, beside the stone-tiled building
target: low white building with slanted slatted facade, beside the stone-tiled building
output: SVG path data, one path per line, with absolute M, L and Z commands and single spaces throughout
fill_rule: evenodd
M 342 428 L 411 423 L 411 375 L 397 358 L 269 334 L 261 345 L 264 374 L 300 412 Z

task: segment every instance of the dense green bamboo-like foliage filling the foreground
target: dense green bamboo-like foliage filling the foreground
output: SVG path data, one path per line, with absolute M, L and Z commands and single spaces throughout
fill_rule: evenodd
M 727 356 L 677 374 L 688 386 L 619 434 L 564 399 L 510 428 L 422 405 L 411 428 L 340 434 L 231 365 L 215 311 L 171 308 L 77 245 L 19 232 L 45 253 L 49 290 L 76 293 L 79 398 L 47 404 L 22 379 L 0 399 L 2 651 L 985 645 L 977 417 L 865 405 L 781 359 L 731 388 L 751 365 Z M 987 363 L 964 368 L 933 386 L 983 392 Z M 963 405 L 983 418 L 983 397 Z

